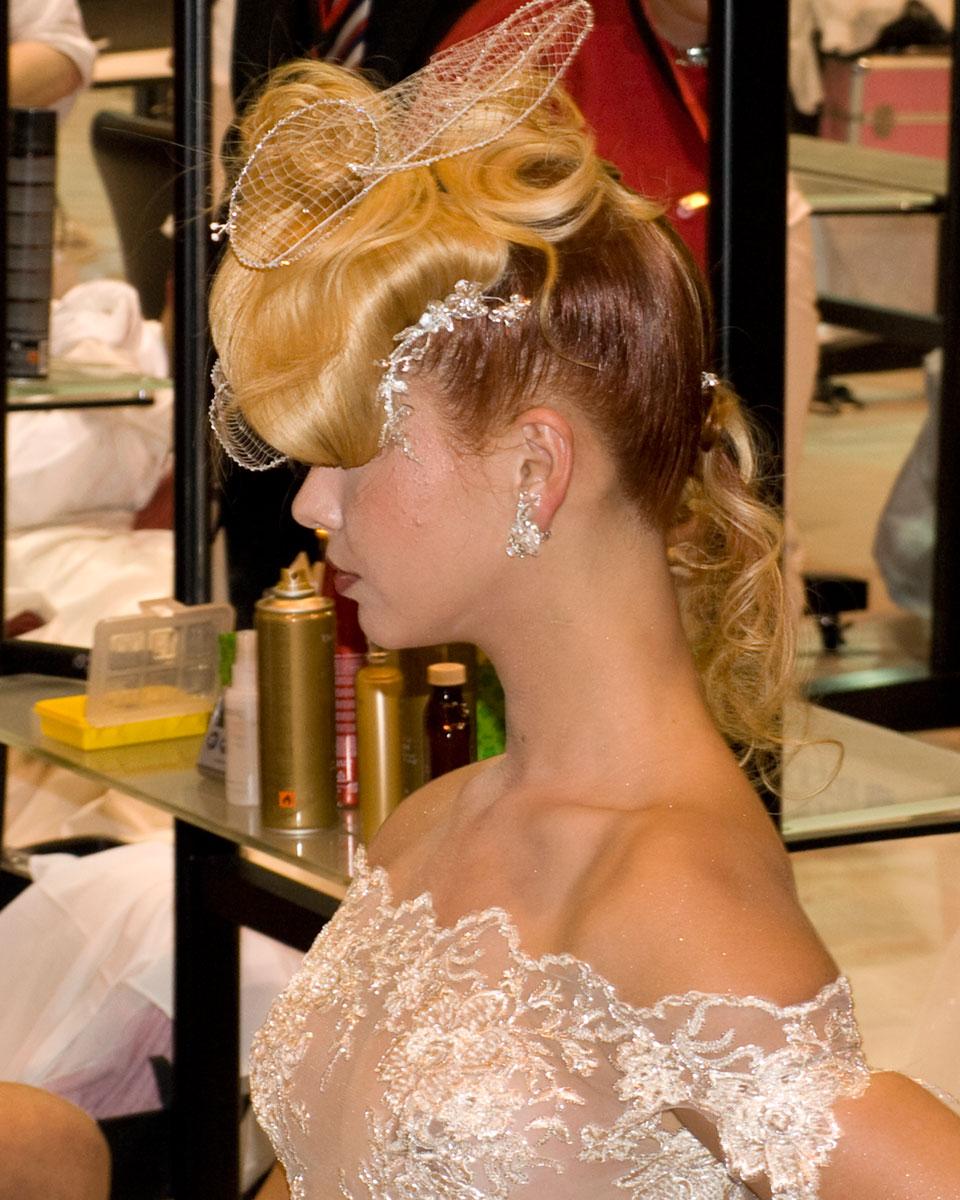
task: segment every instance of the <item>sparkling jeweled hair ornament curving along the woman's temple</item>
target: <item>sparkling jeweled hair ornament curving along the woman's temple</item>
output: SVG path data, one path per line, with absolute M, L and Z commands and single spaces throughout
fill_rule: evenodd
M 402 376 L 424 360 L 433 334 L 439 334 L 442 330 L 452 332 L 455 320 L 474 320 L 478 317 L 486 317 L 494 324 L 509 328 L 522 320 L 529 307 L 530 301 L 526 296 L 515 294 L 509 300 L 485 296 L 481 283 L 458 280 L 450 295 L 427 305 L 415 325 L 408 325 L 395 334 L 396 348 L 390 358 L 377 364 L 384 368 L 377 388 L 377 398 L 384 412 L 380 446 L 395 445 L 408 458 L 416 458 L 403 428 L 403 422 L 412 409 L 402 400 L 398 402 L 397 396 L 403 396 L 408 391 L 407 380 Z

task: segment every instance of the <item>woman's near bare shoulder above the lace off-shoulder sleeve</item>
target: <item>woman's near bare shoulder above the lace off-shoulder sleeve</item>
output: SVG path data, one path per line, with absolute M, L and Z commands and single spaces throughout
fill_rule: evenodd
M 809 1000 L 838 970 L 762 811 L 659 805 L 598 854 L 566 937 L 631 1003 L 704 991 Z

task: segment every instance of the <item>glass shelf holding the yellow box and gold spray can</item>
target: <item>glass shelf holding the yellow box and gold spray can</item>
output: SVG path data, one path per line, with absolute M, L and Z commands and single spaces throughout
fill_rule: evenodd
M 306 871 L 313 886 L 342 896 L 349 883 L 356 839 L 347 823 L 311 834 L 284 834 L 264 829 L 259 810 L 228 804 L 222 780 L 197 769 L 203 738 L 174 738 L 110 750 L 79 750 L 44 737 L 34 713 L 38 700 L 83 691 L 76 679 L 49 676 L 0 677 L 0 742 L 76 770 L 88 779 L 115 787 L 156 805 L 178 820 L 236 842 L 271 860 Z M 348 814 L 344 822 L 349 822 Z

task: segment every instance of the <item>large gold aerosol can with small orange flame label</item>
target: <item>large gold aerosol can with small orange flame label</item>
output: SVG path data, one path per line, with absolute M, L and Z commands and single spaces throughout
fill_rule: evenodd
M 298 568 L 257 601 L 260 811 L 268 829 L 337 823 L 334 601 Z

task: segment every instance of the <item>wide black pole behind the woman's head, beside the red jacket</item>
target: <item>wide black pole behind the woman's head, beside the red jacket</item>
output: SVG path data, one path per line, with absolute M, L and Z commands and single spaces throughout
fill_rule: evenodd
M 786 347 L 787 5 L 710 5 L 716 361 L 764 428 L 781 494 Z

